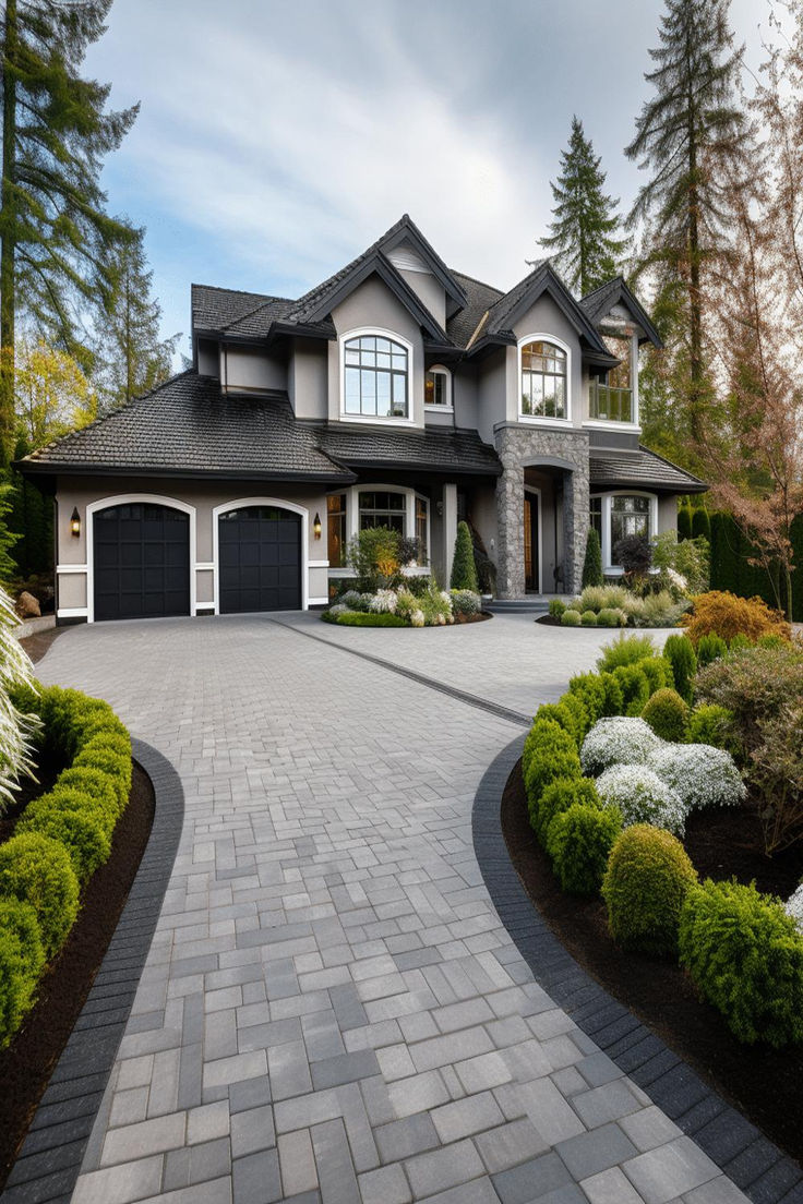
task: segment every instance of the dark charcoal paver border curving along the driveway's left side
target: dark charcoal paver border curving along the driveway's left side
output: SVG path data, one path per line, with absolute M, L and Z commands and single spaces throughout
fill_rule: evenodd
M 134 760 L 155 793 L 153 827 L 106 956 L 31 1121 L 2 1204 L 67 1204 L 150 949 L 184 821 L 170 761 L 142 740 Z

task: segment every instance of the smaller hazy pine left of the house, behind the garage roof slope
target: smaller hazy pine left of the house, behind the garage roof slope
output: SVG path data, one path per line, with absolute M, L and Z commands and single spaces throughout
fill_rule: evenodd
M 159 337 L 161 306 L 150 293 L 144 230 L 134 230 L 132 240 L 120 244 L 114 266 L 114 291 L 96 353 L 104 413 L 166 380 L 181 338 Z

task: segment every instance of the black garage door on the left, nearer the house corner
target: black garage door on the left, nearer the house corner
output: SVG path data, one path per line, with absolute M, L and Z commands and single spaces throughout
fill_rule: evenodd
M 129 502 L 95 512 L 95 619 L 189 614 L 189 515 Z

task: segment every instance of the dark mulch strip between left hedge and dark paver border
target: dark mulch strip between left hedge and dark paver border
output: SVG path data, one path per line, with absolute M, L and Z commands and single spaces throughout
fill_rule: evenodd
M 114 828 L 112 855 L 88 883 L 78 919 L 42 976 L 25 1023 L 11 1045 L 0 1050 L 0 1191 L 114 934 L 148 843 L 153 810 L 150 779 L 135 761 L 129 804 Z

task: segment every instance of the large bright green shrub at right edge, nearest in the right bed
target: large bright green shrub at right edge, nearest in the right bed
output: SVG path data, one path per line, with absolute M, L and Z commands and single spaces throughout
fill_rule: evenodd
M 803 934 L 780 899 L 755 884 L 691 886 L 680 914 L 680 963 L 748 1045 L 803 1041 Z

